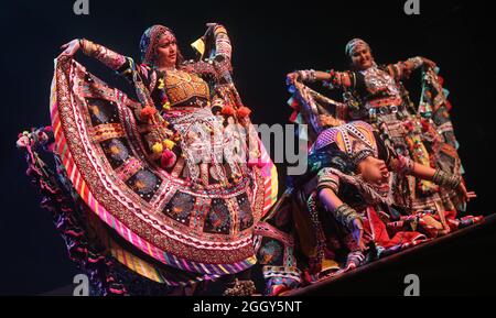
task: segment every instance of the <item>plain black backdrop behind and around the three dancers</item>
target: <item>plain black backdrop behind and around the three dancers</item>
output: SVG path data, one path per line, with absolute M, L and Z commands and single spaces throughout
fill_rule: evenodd
M 188 44 L 204 33 L 206 22 L 227 28 L 234 47 L 237 88 L 245 105 L 254 110 L 255 123 L 285 123 L 291 113 L 285 103 L 289 98 L 285 74 L 302 68 L 346 69 L 344 46 L 353 37 L 369 42 L 378 63 L 416 55 L 433 59 L 445 78 L 445 88 L 451 91 L 452 120 L 461 143 L 466 182 L 478 195 L 471 202 L 470 211 L 484 215 L 494 211 L 495 53 L 490 44 L 494 35 L 489 36 L 492 11 L 484 2 L 420 0 L 420 15 L 405 14 L 403 0 L 298 3 L 89 0 L 89 15 L 74 14 L 73 3 L 2 1 L 0 8 L 3 149 L 0 295 L 42 294 L 71 284 L 77 273 L 66 256 L 50 212 L 39 207 L 40 197 L 29 185 L 25 162 L 15 149 L 19 132 L 50 123 L 50 84 L 58 47 L 72 39 L 86 37 L 138 59 L 141 33 L 155 23 L 174 30 L 183 54 L 190 58 L 194 56 Z M 80 53 L 76 58 L 103 79 L 132 94 L 108 69 Z M 417 76 L 408 86 L 416 101 L 419 83 Z M 284 169 L 279 172 L 283 183 Z M 493 240 L 494 235 L 487 238 Z M 468 246 L 479 249 L 475 260 L 463 264 L 453 262 L 443 272 L 464 276 L 465 285 L 472 284 L 472 289 L 481 286 L 489 290 L 481 271 L 496 276 L 495 251 L 487 251 L 484 244 L 484 240 L 478 240 Z M 451 256 L 464 255 L 463 250 L 443 251 Z M 474 253 L 471 255 L 474 257 Z M 410 271 L 432 266 L 435 264 L 425 259 L 414 262 Z M 479 273 L 474 277 L 476 282 L 470 279 L 474 271 Z M 429 279 L 428 286 L 433 286 L 438 278 L 434 275 Z M 462 284 L 454 288 L 462 293 L 465 287 Z

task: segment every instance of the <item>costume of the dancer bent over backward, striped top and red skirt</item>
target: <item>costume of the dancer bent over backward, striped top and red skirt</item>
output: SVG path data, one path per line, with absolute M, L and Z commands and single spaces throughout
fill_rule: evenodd
M 388 164 L 391 172 L 387 187 L 369 184 L 356 174 L 353 157 L 364 150 Z M 405 198 L 399 185 L 412 172 L 413 161 L 386 147 L 373 127 L 365 122 L 324 130 L 310 151 L 309 167 L 308 176 L 291 183 L 294 188 L 288 189 L 262 219 L 274 228 L 271 228 L 272 233 L 283 235 L 276 240 L 274 234 L 261 233 L 259 262 L 273 260 L 281 265 L 283 238 L 287 242 L 294 241 L 294 264 L 301 272 L 299 285 L 267 275 L 267 286 L 276 294 L 336 278 L 378 257 L 431 240 L 442 233 L 444 222 L 449 231 L 481 219 L 470 217 L 464 222 L 457 220 L 453 211 L 409 213 L 408 209 L 401 209 Z M 328 211 L 320 201 L 322 188 L 332 189 L 344 205 Z M 359 249 L 352 235 L 355 219 L 363 224 L 365 250 Z M 272 273 L 270 270 L 267 271 Z M 291 270 L 284 265 L 278 273 L 285 273 L 282 275 L 285 278 L 291 276 Z

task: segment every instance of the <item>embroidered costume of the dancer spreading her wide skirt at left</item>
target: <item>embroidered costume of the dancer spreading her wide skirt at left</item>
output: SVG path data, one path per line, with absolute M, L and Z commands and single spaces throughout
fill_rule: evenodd
M 217 29 L 222 54 L 230 54 L 225 30 Z M 151 35 L 147 45 L 159 37 L 155 32 Z M 104 63 L 109 61 L 105 52 L 119 56 L 100 45 L 91 47 L 103 54 L 90 55 Z M 188 64 L 175 74 L 160 74 L 128 57 L 117 59 L 123 64 L 109 66 L 132 80 L 140 103 L 74 61 L 56 62 L 51 101 L 54 149 L 75 191 L 89 211 L 137 249 L 133 255 L 143 253 L 179 271 L 176 278 L 182 272 L 191 273 L 182 282 L 214 279 L 252 266 L 254 226 L 274 201 L 277 172 L 248 118 L 212 113 L 213 98 L 234 109 L 242 107 L 233 83 L 222 73 L 222 63 L 214 63 L 214 68 Z M 220 74 L 206 76 L 209 86 L 195 69 Z M 173 101 L 174 108 L 157 105 L 155 91 Z M 192 100 L 206 102 L 192 105 Z M 248 133 L 225 134 L 224 121 L 236 121 Z M 213 143 L 211 135 L 208 142 L 200 135 L 206 131 L 214 132 Z M 236 141 L 248 144 L 241 140 L 247 134 L 257 141 L 250 149 L 257 151 L 256 164 L 225 155 L 227 145 Z M 111 246 L 112 254 L 132 267 L 133 262 L 125 262 L 132 257 L 119 257 L 119 249 Z M 177 283 L 174 275 L 158 277 L 153 279 Z

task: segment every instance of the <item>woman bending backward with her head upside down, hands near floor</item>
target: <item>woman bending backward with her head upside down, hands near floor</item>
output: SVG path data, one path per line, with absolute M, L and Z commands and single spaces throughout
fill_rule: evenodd
M 413 175 L 470 201 L 461 177 L 391 152 L 362 121 L 324 130 L 310 150 L 309 172 L 257 224 L 267 294 L 333 277 L 371 260 L 478 222 L 432 211 L 411 212 L 403 179 Z M 436 220 L 436 221 L 435 221 Z M 444 232 L 443 232 L 444 231 Z

